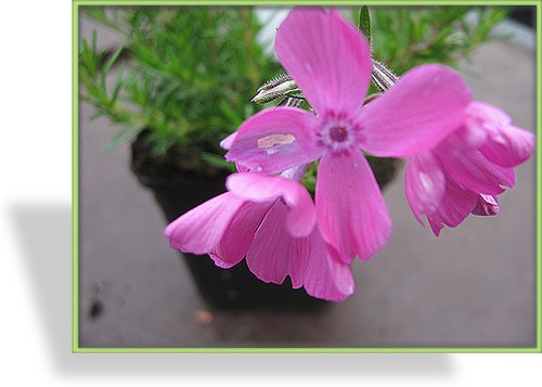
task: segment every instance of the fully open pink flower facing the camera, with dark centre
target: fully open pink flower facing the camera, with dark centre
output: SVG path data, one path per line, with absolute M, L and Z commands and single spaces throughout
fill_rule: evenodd
M 260 112 L 227 141 L 227 158 L 264 173 L 320 158 L 319 232 L 337 261 L 369 259 L 390 237 L 391 220 L 362 152 L 405 157 L 435 146 L 464 121 L 470 92 L 453 70 L 427 65 L 362 107 L 369 43 L 337 11 L 293 10 L 279 27 L 275 51 L 315 114 Z

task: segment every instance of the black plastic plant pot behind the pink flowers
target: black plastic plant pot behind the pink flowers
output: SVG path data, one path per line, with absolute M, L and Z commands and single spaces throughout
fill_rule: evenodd
M 132 146 L 132 170 L 141 184 L 152 190 L 162 207 L 167 222 L 171 222 L 191 208 L 225 191 L 225 173 L 216 178 L 162 177 L 141 173 L 134 166 Z M 396 170 L 396 160 L 377 159 L 375 170 L 380 170 L 380 183 L 389 181 Z M 166 242 L 165 242 L 166 243 Z M 313 311 L 331 302 L 309 296 L 305 289 L 293 289 L 289 280 L 284 284 L 267 284 L 259 281 L 245 261 L 231 269 L 215 266 L 208 256 L 181 254 L 195 284 L 209 306 L 218 309 L 246 310 L 268 308 L 273 310 Z

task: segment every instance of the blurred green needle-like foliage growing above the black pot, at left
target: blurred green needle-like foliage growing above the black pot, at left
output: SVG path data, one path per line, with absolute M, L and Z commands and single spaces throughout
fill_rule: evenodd
M 177 146 L 223 154 L 219 141 L 260 106 L 249 96 L 280 72 L 257 42 L 261 25 L 251 8 L 83 8 L 121 34 L 114 52 L 82 39 L 81 99 L 121 129 L 113 146 L 143 129 L 155 156 Z M 202 157 L 207 163 L 215 158 Z M 215 163 L 216 164 L 216 163 Z

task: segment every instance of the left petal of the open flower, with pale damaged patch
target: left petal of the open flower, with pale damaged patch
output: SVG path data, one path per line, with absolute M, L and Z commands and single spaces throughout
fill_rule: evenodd
M 240 127 L 225 158 L 257 172 L 280 173 L 308 164 L 322 152 L 315 144 L 318 118 L 295 107 L 262 111 Z

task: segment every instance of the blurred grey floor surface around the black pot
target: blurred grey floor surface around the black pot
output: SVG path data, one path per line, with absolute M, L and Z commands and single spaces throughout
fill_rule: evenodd
M 477 100 L 535 130 L 532 49 L 488 44 L 464 74 Z M 499 216 L 470 217 L 438 238 L 415 221 L 399 173 L 385 191 L 393 235 L 353 263 L 357 291 L 344 302 L 318 313 L 220 312 L 169 248 L 158 206 L 129 170 L 129 147 L 105 152 L 117 128 L 90 122 L 92 113 L 80 105 L 79 347 L 535 346 L 534 156 L 517 168 Z M 96 300 L 103 308 L 91 313 Z

